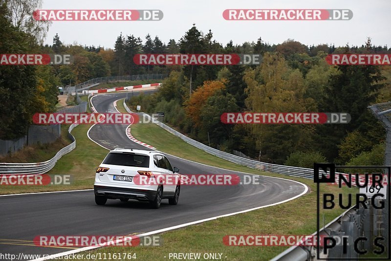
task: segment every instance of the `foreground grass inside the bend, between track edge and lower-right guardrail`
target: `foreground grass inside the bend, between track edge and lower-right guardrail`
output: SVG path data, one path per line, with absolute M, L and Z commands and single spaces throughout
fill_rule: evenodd
M 298 180 L 299 178 L 292 178 Z M 136 253 L 137 259 L 168 260 L 169 253 L 223 253 L 224 260 L 270 260 L 287 247 L 226 246 L 226 235 L 311 235 L 316 231 L 316 186 L 311 180 L 301 180 L 310 192 L 300 199 L 281 205 L 223 217 L 216 220 L 161 233 L 163 245 L 158 247 L 103 247 L 88 251 L 96 253 Z M 322 185 L 337 193 L 335 186 Z M 180 203 L 179 203 L 180 204 Z M 326 213 L 326 222 L 339 215 L 338 210 Z M 124 231 L 126 233 L 126 231 Z M 84 252 L 87 254 L 88 252 Z M 66 260 L 66 259 L 63 259 Z

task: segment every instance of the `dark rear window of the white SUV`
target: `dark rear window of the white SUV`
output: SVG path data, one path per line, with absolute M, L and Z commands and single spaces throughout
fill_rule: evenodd
M 140 154 L 131 153 L 109 153 L 103 164 L 134 166 L 134 167 L 149 167 L 150 157 Z

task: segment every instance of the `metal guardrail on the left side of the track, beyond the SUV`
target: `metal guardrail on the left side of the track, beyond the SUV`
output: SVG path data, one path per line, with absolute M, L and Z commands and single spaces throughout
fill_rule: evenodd
M 52 169 L 57 161 L 66 153 L 72 151 L 76 147 L 75 137 L 70 133 L 79 123 L 73 123 L 68 128 L 68 137 L 72 143 L 60 149 L 56 155 L 50 160 L 38 163 L 0 163 L 0 175 L 30 175 L 43 174 Z

